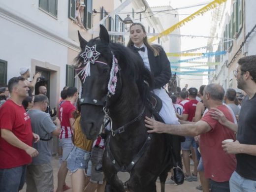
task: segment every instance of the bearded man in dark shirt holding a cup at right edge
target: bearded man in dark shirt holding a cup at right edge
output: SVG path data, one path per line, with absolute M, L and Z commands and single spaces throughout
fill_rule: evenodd
M 235 142 L 223 142 L 224 151 L 236 154 L 237 159 L 236 170 L 229 181 L 230 192 L 256 192 L 256 56 L 241 58 L 238 64 L 234 71 L 237 88 L 247 94 L 242 101 L 238 127 L 217 109 L 212 116 L 237 132 Z

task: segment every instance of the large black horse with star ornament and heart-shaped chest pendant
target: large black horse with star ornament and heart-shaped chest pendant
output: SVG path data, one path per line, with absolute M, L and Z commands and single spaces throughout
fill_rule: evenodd
M 168 140 L 164 134 L 147 133 L 144 123 L 145 116 L 152 117 L 147 101 L 153 82 L 150 72 L 128 48 L 110 43 L 103 26 L 99 37 L 89 42 L 78 35 L 82 130 L 95 139 L 104 118 L 112 122 L 102 160 L 105 192 L 156 192 L 158 176 L 164 192 L 172 167 Z

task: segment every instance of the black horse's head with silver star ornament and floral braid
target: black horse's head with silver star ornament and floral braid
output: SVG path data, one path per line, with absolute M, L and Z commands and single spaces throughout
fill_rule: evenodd
M 115 59 L 109 48 L 109 35 L 103 26 L 100 26 L 99 38 L 87 42 L 79 32 L 78 36 L 81 53 L 76 58 L 76 72 L 82 83 L 80 124 L 87 138 L 95 139 L 103 122 L 102 109 L 107 107 L 107 95 L 119 94 L 115 93 L 115 86 L 119 83 L 118 65 L 113 61 Z M 114 68 L 111 68 L 113 65 Z

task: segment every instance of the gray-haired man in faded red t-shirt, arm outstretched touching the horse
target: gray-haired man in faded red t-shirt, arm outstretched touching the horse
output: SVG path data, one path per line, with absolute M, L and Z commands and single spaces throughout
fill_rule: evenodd
M 229 179 L 236 168 L 234 155 L 225 154 L 222 141 L 235 139 L 231 129 L 213 119 L 211 109 L 221 110 L 229 121 L 234 121 L 228 108 L 223 105 L 224 89 L 218 84 L 209 84 L 204 88 L 203 103 L 209 112 L 196 123 L 182 122 L 184 125 L 166 125 L 146 117 L 148 132 L 170 133 L 182 136 L 200 136 L 200 151 L 203 158 L 206 178 L 210 179 L 211 192 L 229 192 Z

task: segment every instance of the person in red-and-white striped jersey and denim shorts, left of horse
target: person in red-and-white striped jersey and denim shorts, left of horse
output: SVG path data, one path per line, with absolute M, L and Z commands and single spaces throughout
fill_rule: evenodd
M 73 112 L 76 110 L 74 103 L 77 101 L 78 93 L 75 87 L 68 87 L 66 90 L 65 102 L 59 108 L 59 119 L 61 120 L 60 142 L 62 143 L 63 154 L 62 164 L 58 172 L 58 187 L 56 192 L 62 192 L 69 187 L 65 185 L 65 178 L 67 174 L 67 157 L 73 148 L 71 136 L 73 133 L 73 124 L 75 119 Z

